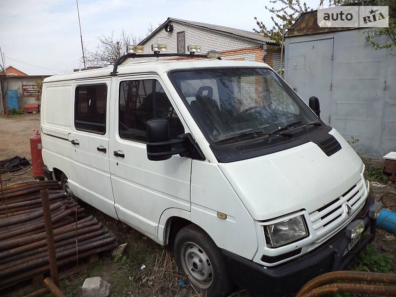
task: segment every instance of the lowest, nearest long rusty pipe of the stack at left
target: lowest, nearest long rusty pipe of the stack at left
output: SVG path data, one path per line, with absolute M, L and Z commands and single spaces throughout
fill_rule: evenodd
M 90 256 L 90 255 L 97 254 L 97 253 L 99 253 L 101 251 L 104 251 L 104 250 L 113 249 L 114 247 L 117 247 L 117 246 L 118 246 L 118 243 L 114 242 L 114 243 L 112 243 L 110 245 L 107 245 L 107 246 L 93 248 L 93 249 L 90 249 L 90 250 L 88 250 L 86 252 L 78 254 L 78 259 L 81 260 L 81 259 L 84 259 L 84 258 Z M 58 265 L 59 266 L 63 266 L 63 265 L 69 264 L 69 263 L 73 263 L 75 261 L 76 261 L 76 256 L 73 255 L 73 256 L 64 258 L 62 260 L 59 260 L 58 261 Z M 49 265 L 45 265 L 45 266 L 42 266 L 42 267 L 39 267 L 39 268 L 36 268 L 36 269 L 28 270 L 26 272 L 19 273 L 18 275 L 13 275 L 13 276 L 11 276 L 9 278 L 0 279 L 0 288 L 5 289 L 5 288 L 10 287 L 10 286 L 12 286 L 12 285 L 14 285 L 16 283 L 19 283 L 21 281 L 29 279 L 29 278 L 31 278 L 34 275 L 37 275 L 39 273 L 44 273 L 44 272 L 47 272 L 47 271 L 49 271 Z

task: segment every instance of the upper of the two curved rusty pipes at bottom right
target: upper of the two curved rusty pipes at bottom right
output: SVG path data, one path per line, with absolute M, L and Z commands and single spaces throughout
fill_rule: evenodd
M 378 273 L 378 272 L 367 272 L 367 271 L 334 271 L 328 272 L 315 277 L 314 279 L 307 282 L 298 291 L 296 297 L 301 297 L 307 292 L 312 291 L 315 288 L 329 284 L 334 281 L 361 281 L 371 283 L 385 283 L 385 284 L 396 284 L 396 274 L 393 273 Z

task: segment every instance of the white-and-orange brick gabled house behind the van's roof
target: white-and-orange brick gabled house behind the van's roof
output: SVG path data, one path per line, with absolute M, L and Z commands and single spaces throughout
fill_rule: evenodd
M 222 59 L 265 62 L 275 71 L 281 67 L 281 48 L 272 40 L 254 32 L 220 25 L 168 18 L 139 45 L 151 53 L 151 44 L 166 44 L 168 52 L 185 53 L 188 45 L 201 52 L 220 51 Z

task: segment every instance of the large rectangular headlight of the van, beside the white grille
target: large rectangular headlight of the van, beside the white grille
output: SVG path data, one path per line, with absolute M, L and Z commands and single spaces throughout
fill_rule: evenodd
M 264 228 L 264 233 L 269 238 L 272 247 L 284 246 L 308 235 L 302 215 L 267 225 Z

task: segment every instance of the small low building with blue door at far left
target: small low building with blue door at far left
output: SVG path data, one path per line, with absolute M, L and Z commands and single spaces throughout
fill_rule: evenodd
M 41 82 L 49 75 L 28 75 L 8 66 L 0 73 L 0 113 L 4 110 L 38 111 L 41 103 Z M 39 83 L 39 84 L 38 84 Z

